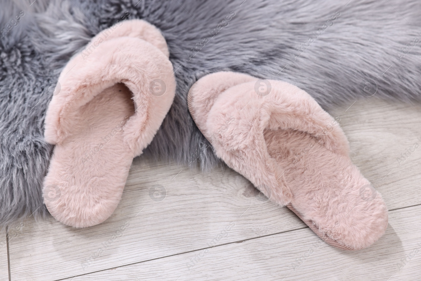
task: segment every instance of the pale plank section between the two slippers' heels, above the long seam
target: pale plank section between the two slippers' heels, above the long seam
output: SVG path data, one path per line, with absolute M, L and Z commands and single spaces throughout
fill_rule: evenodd
M 155 187 L 165 187 L 163 201 L 163 195 L 154 197 Z M 136 159 L 119 206 L 101 225 L 73 229 L 53 218 L 26 220 L 22 234 L 10 241 L 12 280 L 56 280 L 204 248 L 210 241 L 305 227 L 287 208 L 264 201 L 230 169 L 204 174 Z M 235 225 L 226 233 L 230 222 Z

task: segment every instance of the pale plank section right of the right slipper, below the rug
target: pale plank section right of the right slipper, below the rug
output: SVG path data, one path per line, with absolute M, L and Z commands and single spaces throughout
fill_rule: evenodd
M 341 118 L 352 161 L 389 209 L 421 204 L 421 104 L 392 103 L 373 96 L 329 113 Z M 408 148 L 413 152 L 407 153 Z

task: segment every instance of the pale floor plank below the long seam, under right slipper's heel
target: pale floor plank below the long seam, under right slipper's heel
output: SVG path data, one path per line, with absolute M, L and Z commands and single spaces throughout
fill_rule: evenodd
M 421 206 L 390 211 L 386 234 L 355 252 L 333 248 L 305 228 L 71 280 L 415 281 L 421 268 L 420 214 Z

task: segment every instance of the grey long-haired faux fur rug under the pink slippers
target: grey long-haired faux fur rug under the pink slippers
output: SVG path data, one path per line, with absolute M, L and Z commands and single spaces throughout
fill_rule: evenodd
M 171 52 L 177 94 L 146 151 L 156 158 L 218 164 L 186 101 L 189 87 L 211 72 L 286 80 L 324 108 L 374 93 L 408 102 L 420 96 L 419 0 L 0 2 L 0 225 L 47 214 L 41 186 L 52 147 L 43 120 L 56 79 L 119 19 L 155 24 Z

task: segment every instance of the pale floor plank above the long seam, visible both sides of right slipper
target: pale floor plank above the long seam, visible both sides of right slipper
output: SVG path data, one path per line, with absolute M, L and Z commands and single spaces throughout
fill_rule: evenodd
M 354 163 L 382 193 L 389 209 L 421 203 L 416 184 L 421 153 L 416 150 L 400 166 L 396 161 L 413 143 L 411 137 L 416 139 L 414 132 L 421 131 L 421 106 L 376 99 L 357 101 L 347 109 L 349 105 L 330 113 L 341 117 Z M 165 187 L 163 201 L 156 187 Z M 137 158 L 122 201 L 103 224 L 75 230 L 52 218 L 26 220 L 21 235 L 10 241 L 12 280 L 56 280 L 195 251 L 209 243 L 304 227 L 288 209 L 256 195 L 250 183 L 230 169 L 201 173 Z M 230 222 L 235 226 L 223 232 Z M 314 236 L 306 231 L 294 232 L 294 243 L 306 243 Z

